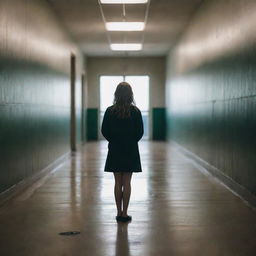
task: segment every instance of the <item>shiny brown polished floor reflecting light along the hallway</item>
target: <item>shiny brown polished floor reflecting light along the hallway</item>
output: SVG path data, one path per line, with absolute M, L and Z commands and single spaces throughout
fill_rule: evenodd
M 175 145 L 141 142 L 129 214 L 117 224 L 105 142 L 88 143 L 0 208 L 0 255 L 256 255 L 256 213 Z M 241 170 L 242 171 L 242 170 Z M 78 230 L 76 236 L 60 236 Z

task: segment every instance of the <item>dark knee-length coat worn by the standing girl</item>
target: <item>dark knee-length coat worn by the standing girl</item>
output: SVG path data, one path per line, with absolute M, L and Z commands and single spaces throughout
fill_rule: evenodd
M 118 118 L 113 106 L 107 108 L 101 132 L 108 140 L 108 156 L 105 172 L 141 172 L 138 141 L 143 135 L 143 122 L 140 110 L 130 106 L 131 116 Z

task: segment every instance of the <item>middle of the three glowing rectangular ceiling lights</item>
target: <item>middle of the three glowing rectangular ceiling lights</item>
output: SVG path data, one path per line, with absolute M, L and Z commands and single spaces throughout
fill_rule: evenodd
M 109 31 L 142 31 L 144 22 L 107 22 L 106 28 Z

